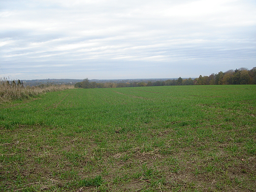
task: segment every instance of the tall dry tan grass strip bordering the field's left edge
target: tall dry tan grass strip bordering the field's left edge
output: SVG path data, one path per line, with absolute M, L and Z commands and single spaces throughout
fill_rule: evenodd
M 24 86 L 20 81 L 8 81 L 0 79 L 0 103 L 28 99 L 47 92 L 62 91 L 66 89 L 74 89 L 73 85 L 40 85 L 40 86 Z

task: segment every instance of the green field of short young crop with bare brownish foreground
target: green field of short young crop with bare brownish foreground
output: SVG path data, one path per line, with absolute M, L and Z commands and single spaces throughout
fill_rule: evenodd
M 71 89 L 0 105 L 1 192 L 255 192 L 256 85 Z

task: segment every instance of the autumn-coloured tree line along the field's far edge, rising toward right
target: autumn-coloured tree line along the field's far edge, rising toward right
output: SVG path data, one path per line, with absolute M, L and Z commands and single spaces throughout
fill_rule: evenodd
M 143 82 L 107 82 L 96 83 L 90 82 L 88 78 L 75 84 L 75 88 L 118 88 L 118 87 L 145 87 L 145 86 L 175 86 L 175 85 L 247 85 L 256 84 L 256 67 L 251 70 L 247 68 L 231 69 L 226 72 L 220 71 L 217 74 L 212 73 L 210 76 L 200 75 L 198 78 L 168 79 L 166 81 L 143 81 Z

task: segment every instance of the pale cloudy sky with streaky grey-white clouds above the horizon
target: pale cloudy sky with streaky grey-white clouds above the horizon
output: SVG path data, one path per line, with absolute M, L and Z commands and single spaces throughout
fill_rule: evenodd
M 256 66 L 256 0 L 0 0 L 0 77 L 209 76 Z

